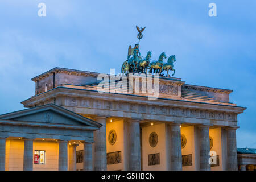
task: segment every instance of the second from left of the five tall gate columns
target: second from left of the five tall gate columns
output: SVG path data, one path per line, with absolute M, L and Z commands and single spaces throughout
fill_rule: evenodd
M 141 170 L 141 139 L 139 120 L 129 120 L 129 167 L 130 171 Z

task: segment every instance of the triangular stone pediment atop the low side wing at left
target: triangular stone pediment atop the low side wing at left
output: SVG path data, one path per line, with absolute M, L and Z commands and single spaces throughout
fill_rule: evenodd
M 58 123 L 64 125 L 81 125 L 81 126 L 96 126 L 101 124 L 83 117 L 82 115 L 73 113 L 63 107 L 48 104 L 30 109 L 15 111 L 0 115 L 0 119 L 9 119 L 15 121 L 29 121 L 29 122 L 44 122 L 44 123 Z

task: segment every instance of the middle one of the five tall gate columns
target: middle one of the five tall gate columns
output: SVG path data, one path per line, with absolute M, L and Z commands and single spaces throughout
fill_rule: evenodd
M 180 124 L 170 124 L 170 169 L 182 171 L 181 134 Z

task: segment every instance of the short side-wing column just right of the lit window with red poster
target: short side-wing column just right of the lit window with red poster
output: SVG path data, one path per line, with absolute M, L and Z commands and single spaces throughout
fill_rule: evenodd
M 68 171 L 68 141 L 59 141 L 59 171 Z

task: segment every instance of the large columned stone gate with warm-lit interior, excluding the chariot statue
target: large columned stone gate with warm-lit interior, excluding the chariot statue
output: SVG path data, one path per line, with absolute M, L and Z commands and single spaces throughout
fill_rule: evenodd
M 132 93 L 117 93 L 110 86 L 109 93 L 97 92 L 101 81 L 97 80 L 99 74 L 53 68 L 32 78 L 36 83 L 35 96 L 22 102 L 24 107 L 29 108 L 55 104 L 101 123 L 100 130 L 94 131 L 94 143 L 86 144 L 92 147 L 92 153 L 85 150 L 84 154 L 87 155 L 84 162 L 92 160 L 92 166 L 86 162 L 84 169 L 237 169 L 234 152 L 237 115 L 243 113 L 245 108 L 229 102 L 232 90 L 187 85 L 180 78 L 160 77 L 159 97 L 150 100 L 147 94 L 135 93 L 133 89 Z M 110 80 L 111 76 L 108 77 Z M 142 91 L 142 86 L 139 88 Z M 51 119 L 47 115 L 45 118 Z M 161 148 L 143 144 L 148 142 L 149 127 L 161 136 L 158 138 Z M 117 133 L 117 142 L 113 145 L 109 144 L 109 133 L 106 132 L 110 129 Z M 181 149 L 181 133 L 187 138 L 187 148 Z M 214 135 L 213 146 L 217 151 L 218 166 L 209 164 L 208 153 L 212 151 L 210 134 Z M 76 150 L 83 150 L 81 144 Z M 107 164 L 107 152 L 111 153 L 108 156 L 117 155 L 118 161 Z M 90 155 L 92 157 L 88 158 Z M 185 166 L 182 165 L 183 161 Z M 81 166 L 77 164 L 77 167 Z

